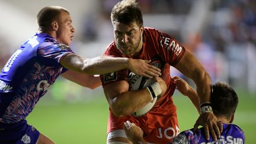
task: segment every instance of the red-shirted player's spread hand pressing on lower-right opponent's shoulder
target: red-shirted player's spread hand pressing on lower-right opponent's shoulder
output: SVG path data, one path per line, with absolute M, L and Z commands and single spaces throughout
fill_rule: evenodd
M 223 130 L 222 123 L 220 123 L 215 114 L 211 112 L 200 114 L 199 119 L 197 119 L 196 124 L 194 124 L 194 130 L 199 126 L 204 127 L 204 135 L 207 140 L 210 139 L 209 131 L 212 134 L 213 140 L 216 141 L 217 138 L 220 138 L 220 133 Z

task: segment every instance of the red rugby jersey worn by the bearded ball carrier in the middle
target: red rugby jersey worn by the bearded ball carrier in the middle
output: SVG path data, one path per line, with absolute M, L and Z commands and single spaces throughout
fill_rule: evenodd
M 123 55 L 123 53 L 117 49 L 115 41 L 112 41 L 109 44 L 104 55 L 151 60 L 151 65 L 160 68 L 162 72 L 161 78 L 164 79 L 167 84 L 167 91 L 156 103 L 155 107 L 158 107 L 172 99 L 171 96 L 174 92 L 174 83 L 171 79 L 170 65 L 175 66 L 179 62 L 184 55 L 185 48 L 169 34 L 162 33 L 161 31 L 150 27 L 144 27 L 143 29 L 143 47 L 139 56 L 133 57 Z M 129 81 L 130 73 L 131 72 L 128 69 L 124 69 L 101 75 L 103 87 L 116 81 Z

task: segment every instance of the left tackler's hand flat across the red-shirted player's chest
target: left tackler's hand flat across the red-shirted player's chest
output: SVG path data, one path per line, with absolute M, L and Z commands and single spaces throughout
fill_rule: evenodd
M 156 68 L 155 66 L 149 65 L 148 63 L 151 60 L 142 60 L 142 59 L 129 59 L 130 71 L 137 73 L 137 75 L 146 76 L 147 78 L 153 78 L 154 76 L 161 75 L 161 69 Z

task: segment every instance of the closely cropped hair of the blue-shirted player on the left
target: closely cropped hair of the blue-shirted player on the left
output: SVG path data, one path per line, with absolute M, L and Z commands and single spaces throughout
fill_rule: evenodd
M 68 12 L 67 9 L 59 6 L 47 6 L 42 8 L 37 14 L 37 24 L 40 31 L 48 31 L 52 27 L 52 22 L 58 20 L 61 12 Z

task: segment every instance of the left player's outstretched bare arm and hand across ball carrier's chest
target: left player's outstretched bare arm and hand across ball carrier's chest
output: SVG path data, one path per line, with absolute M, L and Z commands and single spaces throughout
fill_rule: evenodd
M 104 74 L 119 71 L 121 69 L 130 69 L 130 71 L 148 78 L 161 75 L 160 69 L 148 64 L 149 60 L 141 59 L 108 56 L 85 58 L 70 53 L 63 56 L 62 59 L 60 59 L 60 63 L 67 69 L 87 73 L 89 75 Z

